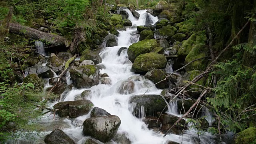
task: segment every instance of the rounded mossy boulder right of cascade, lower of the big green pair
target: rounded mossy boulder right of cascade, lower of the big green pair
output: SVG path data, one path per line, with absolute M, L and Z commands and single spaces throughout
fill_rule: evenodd
M 132 64 L 132 72 L 146 73 L 153 69 L 164 69 L 167 60 L 164 55 L 154 52 L 139 55 Z

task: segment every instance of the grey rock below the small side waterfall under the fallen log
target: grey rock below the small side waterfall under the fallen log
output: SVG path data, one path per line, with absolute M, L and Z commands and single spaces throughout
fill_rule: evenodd
M 54 73 L 47 66 L 34 66 L 26 70 L 28 74 L 37 74 L 40 78 L 52 78 Z

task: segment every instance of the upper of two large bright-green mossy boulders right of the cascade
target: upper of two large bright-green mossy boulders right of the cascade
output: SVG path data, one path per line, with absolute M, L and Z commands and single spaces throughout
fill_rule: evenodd
M 154 39 L 142 40 L 140 42 L 134 43 L 131 46 L 129 46 L 127 51 L 129 60 L 134 62 L 137 56 L 139 56 L 140 54 L 148 53 L 156 47 L 159 47 L 159 44 Z

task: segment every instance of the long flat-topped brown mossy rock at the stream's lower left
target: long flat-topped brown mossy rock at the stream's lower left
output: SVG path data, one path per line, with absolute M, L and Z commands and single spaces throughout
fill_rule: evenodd
M 88 114 L 93 106 L 90 100 L 76 100 L 58 102 L 53 108 L 57 110 L 56 114 L 58 114 L 59 117 L 69 116 L 70 118 L 77 118 L 78 116 Z

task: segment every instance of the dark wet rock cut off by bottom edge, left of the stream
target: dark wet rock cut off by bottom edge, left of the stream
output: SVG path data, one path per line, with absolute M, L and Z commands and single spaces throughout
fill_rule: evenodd
M 65 132 L 60 129 L 52 131 L 44 138 L 46 144 L 76 144 Z

